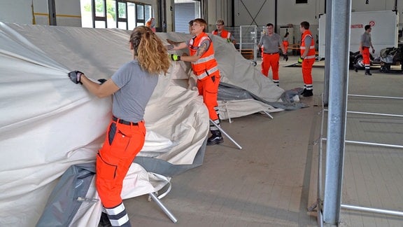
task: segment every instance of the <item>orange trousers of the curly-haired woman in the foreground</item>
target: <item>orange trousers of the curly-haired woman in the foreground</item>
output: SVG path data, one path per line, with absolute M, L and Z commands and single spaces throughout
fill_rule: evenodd
M 137 153 L 143 148 L 146 127 L 111 121 L 104 145 L 97 155 L 96 186 L 102 205 L 113 208 L 122 203 L 123 179 Z

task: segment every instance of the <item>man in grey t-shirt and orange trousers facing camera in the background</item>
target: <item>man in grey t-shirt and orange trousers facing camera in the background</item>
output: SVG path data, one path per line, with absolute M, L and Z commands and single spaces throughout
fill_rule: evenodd
M 278 68 L 280 67 L 280 64 L 278 63 L 278 60 L 280 60 L 278 47 L 280 47 L 283 51 L 283 59 L 285 61 L 288 61 L 288 55 L 285 52 L 281 36 L 274 33 L 274 25 L 269 23 L 266 25 L 266 28 L 267 34 L 264 34 L 257 44 L 259 48 L 263 47 L 263 61 L 261 65 L 262 74 L 264 76 L 268 76 L 269 69 L 271 68 L 271 71 L 273 72 L 273 82 L 278 86 L 278 84 L 280 83 L 280 79 L 278 77 Z

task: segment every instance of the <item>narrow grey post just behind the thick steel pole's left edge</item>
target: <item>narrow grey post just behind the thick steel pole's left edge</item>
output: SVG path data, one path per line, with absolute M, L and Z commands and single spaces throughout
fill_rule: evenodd
M 326 35 L 325 35 L 325 80 L 323 88 L 323 104 L 329 104 L 329 77 L 330 77 L 330 36 L 332 32 L 332 0 L 326 1 Z

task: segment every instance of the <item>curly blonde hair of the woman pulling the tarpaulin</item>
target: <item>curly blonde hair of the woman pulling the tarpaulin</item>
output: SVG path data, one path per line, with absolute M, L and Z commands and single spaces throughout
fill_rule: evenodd
M 171 65 L 168 50 L 153 30 L 146 26 L 135 27 L 129 42 L 142 69 L 151 74 L 167 74 Z

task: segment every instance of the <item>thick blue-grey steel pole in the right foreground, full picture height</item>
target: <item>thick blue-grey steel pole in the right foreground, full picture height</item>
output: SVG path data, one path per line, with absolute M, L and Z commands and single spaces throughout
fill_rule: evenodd
M 348 88 L 348 48 L 350 46 L 351 0 L 332 1 L 330 43 L 329 114 L 325 168 L 323 221 L 337 224 L 340 219 L 343 180 L 344 141 Z M 327 56 L 326 56 L 327 57 Z

